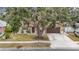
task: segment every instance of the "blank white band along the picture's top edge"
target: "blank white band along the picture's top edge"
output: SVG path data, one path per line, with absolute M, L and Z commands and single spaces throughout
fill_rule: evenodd
M 79 0 L 0 0 L 1 7 L 79 7 Z

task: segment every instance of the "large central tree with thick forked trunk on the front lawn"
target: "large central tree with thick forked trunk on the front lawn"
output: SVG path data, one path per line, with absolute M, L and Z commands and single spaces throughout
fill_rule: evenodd
M 52 8 L 31 8 L 31 21 L 34 23 L 33 26 L 36 29 L 37 36 L 40 38 L 43 32 L 48 28 L 55 26 L 55 19 L 53 17 Z

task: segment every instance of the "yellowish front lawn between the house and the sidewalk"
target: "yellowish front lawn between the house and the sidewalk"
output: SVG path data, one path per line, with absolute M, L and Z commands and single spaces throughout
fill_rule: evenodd
M 33 41 L 38 40 L 35 35 L 27 35 L 27 34 L 11 34 L 10 39 L 6 39 L 8 41 Z M 43 38 L 39 40 L 49 40 L 47 35 L 44 35 Z

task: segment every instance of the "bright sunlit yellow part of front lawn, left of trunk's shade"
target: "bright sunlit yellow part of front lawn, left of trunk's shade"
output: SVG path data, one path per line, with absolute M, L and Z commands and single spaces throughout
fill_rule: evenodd
M 34 38 L 34 35 L 27 35 L 27 34 L 12 34 L 11 36 L 11 40 L 14 40 L 14 41 L 31 41 L 33 40 Z

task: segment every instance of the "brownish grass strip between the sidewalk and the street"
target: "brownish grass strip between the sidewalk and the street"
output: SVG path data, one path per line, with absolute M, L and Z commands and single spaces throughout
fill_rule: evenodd
M 50 48 L 50 43 L 0 43 L 0 48 Z

